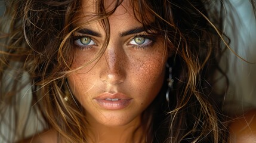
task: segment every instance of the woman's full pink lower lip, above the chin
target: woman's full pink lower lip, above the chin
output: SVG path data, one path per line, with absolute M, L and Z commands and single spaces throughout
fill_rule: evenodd
M 96 100 L 100 107 L 103 107 L 107 110 L 120 110 L 127 107 L 131 100 L 118 100 L 118 101 L 109 101 L 109 100 Z

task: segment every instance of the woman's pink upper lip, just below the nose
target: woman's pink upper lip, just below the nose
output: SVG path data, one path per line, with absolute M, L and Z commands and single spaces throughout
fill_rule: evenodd
M 107 98 L 110 99 L 119 99 L 119 100 L 131 100 L 131 98 L 129 98 L 127 95 L 122 94 L 121 92 L 117 92 L 114 94 L 110 94 L 109 92 L 105 92 L 103 94 L 98 95 L 97 97 L 95 97 L 95 100 L 105 100 Z

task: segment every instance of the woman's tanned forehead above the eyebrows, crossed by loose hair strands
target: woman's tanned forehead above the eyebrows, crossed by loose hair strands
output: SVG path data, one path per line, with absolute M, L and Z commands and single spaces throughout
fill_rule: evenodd
M 116 5 L 118 5 L 118 7 L 116 7 Z M 101 7 L 103 6 L 106 13 L 109 13 L 113 10 L 115 10 L 115 12 L 109 16 L 104 14 L 102 15 L 100 10 L 102 10 Z M 124 25 L 127 24 L 128 26 L 137 25 L 141 27 L 141 22 L 137 20 L 137 18 L 141 19 L 139 18 L 140 15 L 137 12 L 137 9 L 137 4 L 131 4 L 129 0 L 121 1 L 121 4 L 116 4 L 116 0 L 82 0 L 81 9 L 76 14 L 73 24 L 75 24 L 75 26 L 79 25 L 79 27 L 87 27 L 92 23 L 94 24 L 95 21 L 102 20 L 103 18 L 107 17 L 109 19 L 110 26 L 115 25 L 116 23 L 124 23 Z M 134 13 L 136 14 L 136 18 Z M 148 18 L 149 21 L 153 21 L 151 20 L 151 17 Z

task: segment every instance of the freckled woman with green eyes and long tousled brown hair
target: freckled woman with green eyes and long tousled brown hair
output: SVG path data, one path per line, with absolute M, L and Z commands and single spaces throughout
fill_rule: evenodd
M 45 132 L 21 142 L 227 142 L 217 3 L 8 1 L 1 117 L 30 84 Z

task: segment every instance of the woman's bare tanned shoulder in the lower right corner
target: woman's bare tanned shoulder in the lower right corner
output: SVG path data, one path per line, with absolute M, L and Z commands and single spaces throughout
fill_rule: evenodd
M 234 143 L 256 142 L 256 109 L 249 110 L 230 125 L 230 141 Z

